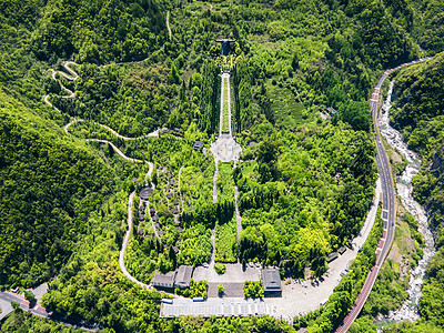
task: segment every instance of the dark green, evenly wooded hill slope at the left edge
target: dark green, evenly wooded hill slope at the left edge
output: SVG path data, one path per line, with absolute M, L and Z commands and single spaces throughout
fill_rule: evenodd
M 65 263 L 113 182 L 91 150 L 0 99 L 0 284 L 31 286 Z

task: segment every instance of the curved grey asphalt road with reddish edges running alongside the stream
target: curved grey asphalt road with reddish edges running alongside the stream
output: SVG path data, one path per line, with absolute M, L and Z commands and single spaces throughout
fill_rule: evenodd
M 382 83 L 393 71 L 398 70 L 406 65 L 427 61 L 430 59 L 431 58 L 422 58 L 412 62 L 403 63 L 394 69 L 385 71 L 384 74 L 381 77 L 380 81 L 377 82 L 376 87 L 374 88 L 372 98 L 370 99 L 370 108 L 372 110 L 373 123 L 376 132 L 376 162 L 382 184 L 382 209 L 383 209 L 382 220 L 384 222 L 384 231 L 376 249 L 376 263 L 370 271 L 367 280 L 363 285 L 360 295 L 357 296 L 350 313 L 343 320 L 341 326 L 337 327 L 336 333 L 345 333 L 349 330 L 350 325 L 360 314 L 362 307 L 364 306 L 369 297 L 370 292 L 372 291 L 372 287 L 376 280 L 377 273 L 380 272 L 380 269 L 384 262 L 384 259 L 387 255 L 390 248 L 392 246 L 394 238 L 395 219 L 396 219 L 395 191 L 393 186 L 393 179 L 390 169 L 389 158 L 385 152 L 384 145 L 381 142 L 380 129 L 377 127 L 377 111 L 379 111 L 380 91 Z

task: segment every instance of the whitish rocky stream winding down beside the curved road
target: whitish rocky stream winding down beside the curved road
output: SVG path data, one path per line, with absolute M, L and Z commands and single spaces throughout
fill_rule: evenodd
M 435 254 L 435 243 L 432 231 L 428 228 L 427 216 L 423 208 L 413 199 L 412 178 L 420 171 L 421 159 L 417 153 L 410 150 L 403 141 L 400 132 L 390 125 L 390 109 L 392 108 L 392 92 L 394 81 L 390 82 L 387 99 L 382 107 L 382 115 L 379 121 L 381 134 L 385 137 L 389 144 L 396 149 L 408 162 L 404 172 L 396 180 L 397 195 L 404 208 L 420 222 L 418 231 L 424 239 L 424 256 L 420 260 L 418 265 L 411 270 L 411 279 L 408 282 L 408 299 L 404 302 L 401 309 L 391 311 L 387 315 L 389 321 L 401 322 L 405 320 L 415 321 L 420 317 L 418 303 L 422 295 L 423 279 L 425 269 Z

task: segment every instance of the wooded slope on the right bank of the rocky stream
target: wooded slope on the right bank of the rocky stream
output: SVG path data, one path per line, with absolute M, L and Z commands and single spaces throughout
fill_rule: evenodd
M 428 212 L 437 253 L 427 268 L 421 297 L 426 322 L 443 326 L 444 309 L 444 53 L 396 77 L 393 123 L 408 145 L 421 153 L 421 172 L 413 179 L 414 196 Z

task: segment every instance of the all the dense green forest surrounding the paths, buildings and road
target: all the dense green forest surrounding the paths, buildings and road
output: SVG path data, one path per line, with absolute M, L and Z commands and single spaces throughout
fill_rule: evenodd
M 148 165 L 122 160 L 109 144 L 78 139 L 105 139 L 128 157 L 155 162 L 152 205 L 164 238 L 161 243 L 141 236 L 141 228 L 152 231 L 134 225 L 125 262 L 138 279 L 148 282 L 155 269 L 208 261 L 214 223 L 219 261 L 282 263 L 294 275 L 310 266 L 320 275 L 325 255 L 359 232 L 370 206 L 376 176 L 366 104 L 372 85 L 383 69 L 443 47 L 440 0 L 0 2 L 0 286 L 28 287 L 57 275 L 42 304 L 110 332 L 295 327 L 270 317 L 160 320 L 162 295 L 135 286 L 118 266 L 128 194 L 140 190 Z M 221 37 L 236 39 L 223 59 L 213 41 Z M 442 58 L 398 78 L 393 113 L 424 157 L 415 195 L 432 212 L 438 246 Z M 71 68 L 79 79 L 53 80 L 51 70 L 64 71 L 67 60 L 78 63 Z M 213 204 L 215 165 L 191 147 L 195 140 L 209 147 L 218 128 L 222 68 L 232 73 L 233 130 L 250 162 L 220 167 L 220 201 Z M 329 107 L 337 112 L 321 119 Z M 72 118 L 85 121 L 69 129 L 71 138 L 63 127 Z M 174 134 L 123 141 L 94 122 L 127 137 L 162 127 Z M 182 232 L 165 199 L 169 179 L 161 165 L 176 181 L 183 167 Z M 234 184 L 243 224 L 239 248 Z M 340 323 L 371 268 L 380 232 L 377 224 L 329 303 L 295 326 L 331 332 Z M 444 299 L 436 296 L 443 293 L 443 256 L 440 250 L 428 269 L 424 325 L 443 324 L 444 306 L 436 303 Z M 383 272 L 382 279 L 394 278 Z M 20 312 L 0 323 L 2 332 L 36 327 L 62 330 Z M 364 316 L 354 330 L 366 329 L 373 325 Z

